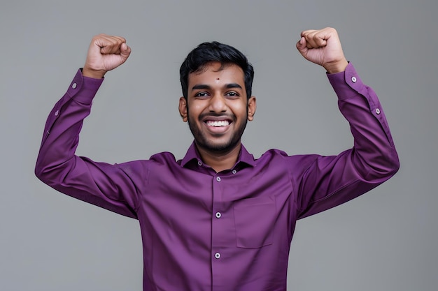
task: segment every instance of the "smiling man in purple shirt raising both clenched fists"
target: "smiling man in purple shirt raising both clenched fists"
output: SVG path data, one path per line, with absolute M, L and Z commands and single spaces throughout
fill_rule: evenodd
M 179 112 L 195 137 L 182 160 L 161 153 L 109 165 L 75 156 L 105 73 L 131 52 L 124 38 L 99 35 L 48 117 L 36 175 L 139 220 L 143 290 L 286 290 L 297 219 L 358 197 L 399 167 L 379 100 L 346 61 L 337 31 L 304 31 L 297 49 L 325 68 L 351 125 L 354 147 L 338 156 L 272 149 L 253 158 L 241 144 L 256 109 L 253 67 L 220 43 L 199 45 L 181 66 Z

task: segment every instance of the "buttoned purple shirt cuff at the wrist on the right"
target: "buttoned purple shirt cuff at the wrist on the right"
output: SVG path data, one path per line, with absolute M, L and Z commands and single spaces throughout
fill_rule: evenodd
M 337 94 L 339 100 L 345 100 L 356 96 L 358 92 L 364 89 L 365 84 L 362 83 L 353 64 L 348 63 L 344 72 L 328 74 L 328 80 Z

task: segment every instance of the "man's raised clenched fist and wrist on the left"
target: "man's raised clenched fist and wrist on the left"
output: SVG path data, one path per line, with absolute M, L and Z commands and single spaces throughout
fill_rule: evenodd
M 99 34 L 92 38 L 88 48 L 87 60 L 83 68 L 85 77 L 100 79 L 108 70 L 125 63 L 131 54 L 131 48 L 125 38 Z

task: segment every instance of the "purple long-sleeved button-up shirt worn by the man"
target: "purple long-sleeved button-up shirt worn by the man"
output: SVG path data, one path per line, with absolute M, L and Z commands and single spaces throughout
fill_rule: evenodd
M 338 156 L 255 159 L 242 146 L 229 170 L 205 165 L 195 144 L 110 165 L 75 156 L 83 119 L 102 80 L 80 70 L 45 125 L 36 175 L 53 188 L 139 220 L 143 290 L 286 290 L 297 219 L 330 209 L 383 183 L 399 161 L 374 91 L 351 64 L 327 75 L 351 125 L 353 149 Z

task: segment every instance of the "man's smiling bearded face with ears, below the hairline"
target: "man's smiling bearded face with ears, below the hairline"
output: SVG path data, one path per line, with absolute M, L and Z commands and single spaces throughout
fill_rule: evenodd
M 234 64 L 221 68 L 219 62 L 211 62 L 204 70 L 190 73 L 188 100 L 180 98 L 179 110 L 197 147 L 227 153 L 240 146 L 255 107 L 255 97 L 246 97 L 243 70 Z

